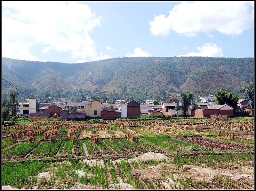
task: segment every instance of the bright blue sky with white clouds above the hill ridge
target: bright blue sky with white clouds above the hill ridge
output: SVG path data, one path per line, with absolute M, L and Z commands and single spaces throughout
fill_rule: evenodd
M 2 1 L 2 57 L 254 57 L 254 2 Z

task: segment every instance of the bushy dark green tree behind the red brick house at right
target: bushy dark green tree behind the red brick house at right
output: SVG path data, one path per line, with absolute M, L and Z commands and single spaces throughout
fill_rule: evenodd
M 216 99 L 214 99 L 216 104 L 218 105 L 228 104 L 234 107 L 234 109 L 237 106 L 238 99 L 240 99 L 240 97 L 233 96 L 233 92 L 227 93 L 226 91 L 222 91 L 222 90 L 217 91 L 214 94 L 214 97 L 216 97 Z

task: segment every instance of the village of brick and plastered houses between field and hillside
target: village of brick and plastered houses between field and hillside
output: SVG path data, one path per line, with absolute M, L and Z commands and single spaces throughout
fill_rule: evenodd
M 201 101 L 196 102 L 197 108 L 188 107 L 188 116 L 190 117 L 210 117 L 211 115 L 228 115 L 233 116 L 234 112 L 244 112 L 254 114 L 254 110 L 249 108 L 247 99 L 239 99 L 237 107 L 234 108 L 228 104 L 217 105 L 214 101 L 216 97 L 209 94 L 200 97 Z M 67 97 L 61 97 L 60 102 L 40 103 L 39 110 L 36 111 L 36 98 L 29 98 L 26 102 L 19 103 L 18 115 L 30 116 L 46 116 L 48 118 L 57 114 L 63 120 L 84 120 L 86 118 L 101 118 L 105 120 L 113 120 L 119 118 L 140 118 L 140 114 L 149 115 L 182 115 L 181 105 L 179 102 L 179 110 L 175 109 L 177 98 L 171 98 L 168 102 L 158 102 L 153 104 L 154 100 L 145 100 L 139 103 L 135 100 L 125 102 L 124 100 L 116 100 L 116 103 L 109 104 L 101 102 L 97 99 L 91 100 L 89 97 L 86 101 L 71 101 Z

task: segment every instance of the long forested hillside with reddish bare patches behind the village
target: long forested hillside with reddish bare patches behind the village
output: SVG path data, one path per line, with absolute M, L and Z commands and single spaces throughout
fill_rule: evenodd
M 124 96 L 166 96 L 172 92 L 239 92 L 254 81 L 254 58 L 132 57 L 79 64 L 2 58 L 2 77 L 37 97 L 65 96 L 80 89 Z M 2 80 L 2 93 L 12 87 Z

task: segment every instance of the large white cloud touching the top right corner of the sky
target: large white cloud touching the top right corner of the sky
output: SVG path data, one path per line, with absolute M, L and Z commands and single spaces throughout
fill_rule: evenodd
M 217 30 L 238 35 L 254 26 L 254 2 L 182 2 L 169 13 L 149 22 L 151 34 L 166 36 L 175 31 L 189 37 Z

